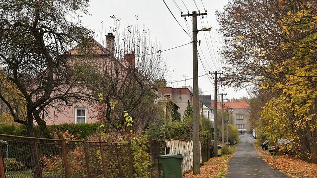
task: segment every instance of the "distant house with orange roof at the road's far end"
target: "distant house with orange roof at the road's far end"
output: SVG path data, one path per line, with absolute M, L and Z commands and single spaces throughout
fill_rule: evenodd
M 251 132 L 250 103 L 246 100 L 233 100 L 223 103 L 225 107 L 230 107 L 232 110 L 230 123 L 244 132 Z M 211 105 L 214 106 L 214 100 L 211 100 Z M 218 102 L 217 105 L 218 111 L 221 111 L 221 102 Z

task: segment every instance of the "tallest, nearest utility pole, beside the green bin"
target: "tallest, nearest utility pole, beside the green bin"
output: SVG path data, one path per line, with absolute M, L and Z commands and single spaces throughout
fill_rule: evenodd
M 199 154 L 199 91 L 198 91 L 198 53 L 197 53 L 197 16 L 205 16 L 207 13 L 197 14 L 193 11 L 193 14 L 181 15 L 182 17 L 192 16 L 193 17 L 193 171 L 194 174 L 200 173 L 200 154 Z

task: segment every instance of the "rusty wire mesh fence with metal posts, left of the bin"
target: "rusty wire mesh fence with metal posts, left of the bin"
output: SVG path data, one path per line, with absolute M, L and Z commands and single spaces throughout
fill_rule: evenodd
M 128 142 L 44 139 L 0 134 L 0 177 L 133 177 Z M 164 141 L 150 140 L 151 177 L 163 177 Z M 5 176 L 3 176 L 5 175 Z

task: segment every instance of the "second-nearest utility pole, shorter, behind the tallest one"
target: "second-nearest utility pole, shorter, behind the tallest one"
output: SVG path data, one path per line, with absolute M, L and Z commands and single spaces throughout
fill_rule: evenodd
M 218 102 L 217 102 L 217 83 L 218 83 L 218 79 L 217 79 L 217 74 L 222 74 L 222 72 L 209 72 L 210 74 L 214 74 L 215 75 L 215 94 L 214 94 L 214 104 L 213 104 L 213 112 L 214 112 L 214 134 L 213 134 L 213 156 L 217 157 L 218 156 Z

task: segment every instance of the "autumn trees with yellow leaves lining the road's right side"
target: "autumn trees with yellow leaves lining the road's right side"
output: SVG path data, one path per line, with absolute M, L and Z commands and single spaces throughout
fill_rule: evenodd
M 259 134 L 289 140 L 281 152 L 317 162 L 315 1 L 236 0 L 218 12 L 226 84 L 253 85 Z

